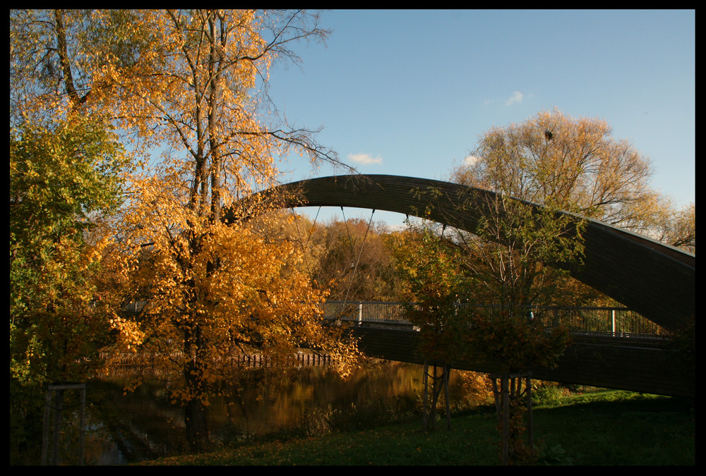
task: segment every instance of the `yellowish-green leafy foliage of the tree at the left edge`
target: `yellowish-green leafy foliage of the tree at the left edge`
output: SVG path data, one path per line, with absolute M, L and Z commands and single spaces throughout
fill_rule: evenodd
M 10 337 L 16 378 L 76 377 L 76 360 L 102 341 L 98 335 L 107 325 L 97 322 L 92 303 L 97 255 L 86 233 L 100 213 L 119 205 L 124 164 L 121 147 L 98 121 L 11 129 Z

